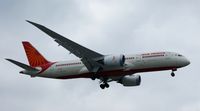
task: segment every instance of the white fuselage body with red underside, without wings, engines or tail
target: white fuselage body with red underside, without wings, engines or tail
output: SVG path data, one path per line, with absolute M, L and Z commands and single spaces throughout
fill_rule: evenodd
M 184 56 L 173 52 L 125 55 L 125 58 L 123 67 L 106 67 L 101 76 L 114 77 L 138 72 L 176 70 L 189 64 Z M 47 78 L 90 78 L 92 75 L 80 60 L 55 62 L 37 68 L 41 69 L 37 76 Z

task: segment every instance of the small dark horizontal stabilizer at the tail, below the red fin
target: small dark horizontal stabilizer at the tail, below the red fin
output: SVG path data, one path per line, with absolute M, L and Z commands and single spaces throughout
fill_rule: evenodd
M 39 71 L 38 69 L 30 67 L 30 66 L 28 66 L 26 64 L 20 63 L 18 61 L 15 61 L 15 60 L 12 60 L 12 59 L 6 59 L 6 60 L 8 60 L 9 62 L 11 62 L 11 63 L 13 63 L 13 64 L 25 69 L 25 70 L 28 70 L 28 71 Z

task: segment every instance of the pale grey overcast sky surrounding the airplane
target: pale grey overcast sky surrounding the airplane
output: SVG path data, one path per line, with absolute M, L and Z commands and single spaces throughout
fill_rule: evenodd
M 91 79 L 30 78 L 5 61 L 28 64 L 21 41 L 30 41 L 48 60 L 78 59 L 25 22 L 31 20 L 102 54 L 172 51 L 191 64 L 141 73 L 139 87 Z M 2 111 L 199 111 L 199 0 L 1 0 L 0 109 Z

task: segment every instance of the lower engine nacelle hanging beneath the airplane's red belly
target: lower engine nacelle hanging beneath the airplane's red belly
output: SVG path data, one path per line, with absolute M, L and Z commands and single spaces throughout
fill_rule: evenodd
M 141 82 L 140 75 L 124 76 L 119 80 L 123 86 L 139 86 Z

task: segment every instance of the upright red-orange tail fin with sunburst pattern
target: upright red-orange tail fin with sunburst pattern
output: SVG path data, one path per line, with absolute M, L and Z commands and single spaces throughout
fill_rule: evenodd
M 31 67 L 50 63 L 29 42 L 23 41 L 22 44 Z

